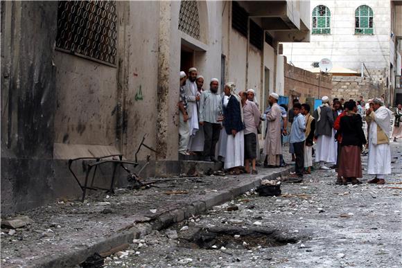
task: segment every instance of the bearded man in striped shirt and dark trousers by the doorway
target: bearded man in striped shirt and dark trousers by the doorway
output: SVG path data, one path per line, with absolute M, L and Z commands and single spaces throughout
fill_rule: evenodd
M 211 79 L 209 90 L 200 98 L 200 125 L 204 127 L 204 161 L 216 161 L 215 148 L 222 127 L 222 97 L 218 93 L 219 80 Z

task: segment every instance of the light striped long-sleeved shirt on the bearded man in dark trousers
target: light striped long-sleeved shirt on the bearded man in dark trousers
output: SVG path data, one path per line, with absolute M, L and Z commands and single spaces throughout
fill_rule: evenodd
M 222 97 L 218 92 L 207 90 L 200 96 L 200 122 L 218 123 L 218 116 L 222 113 Z

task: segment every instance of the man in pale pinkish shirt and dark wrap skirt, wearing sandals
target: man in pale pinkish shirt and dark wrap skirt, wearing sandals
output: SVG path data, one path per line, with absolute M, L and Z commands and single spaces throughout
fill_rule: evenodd
M 250 174 L 250 162 L 252 163 L 252 174 L 258 174 L 256 170 L 256 147 L 257 147 L 257 128 L 260 124 L 260 111 L 257 105 L 247 100 L 247 92 L 238 93 L 241 96 L 243 107 L 244 129 L 244 161 L 245 171 Z

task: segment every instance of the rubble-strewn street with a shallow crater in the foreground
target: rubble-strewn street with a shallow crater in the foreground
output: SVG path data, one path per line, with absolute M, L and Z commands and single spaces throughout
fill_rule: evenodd
M 246 193 L 134 240 L 105 267 L 401 267 L 400 141 L 392 162 L 384 186 L 366 184 L 367 174 L 361 185 L 337 186 L 333 170 L 315 170 L 302 184 L 283 183 L 281 196 Z

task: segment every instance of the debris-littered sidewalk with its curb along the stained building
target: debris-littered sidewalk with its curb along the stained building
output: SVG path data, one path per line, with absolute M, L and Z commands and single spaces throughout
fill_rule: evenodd
M 1 229 L 2 267 L 72 267 L 93 253 L 110 251 L 133 238 L 164 229 L 191 215 L 276 179 L 287 168 L 260 168 L 259 175 L 177 178 L 146 190 L 118 189 L 85 203 L 61 201 L 23 215 L 32 224 L 9 234 Z M 180 192 L 182 191 L 182 192 Z

